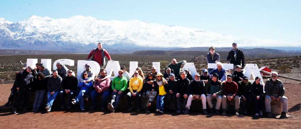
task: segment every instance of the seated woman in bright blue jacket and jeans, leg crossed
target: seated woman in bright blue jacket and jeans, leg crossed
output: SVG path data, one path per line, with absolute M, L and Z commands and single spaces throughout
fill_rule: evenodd
M 88 80 L 88 73 L 85 71 L 83 74 L 82 74 L 82 78 L 84 80 Z M 92 84 L 93 82 L 90 81 L 90 82 L 80 82 L 79 85 L 78 85 L 78 88 L 79 88 L 79 94 L 77 95 L 77 98 L 76 99 L 72 99 L 72 104 L 77 104 L 77 103 L 80 103 L 80 110 L 85 110 L 85 102 L 84 102 L 84 98 L 83 96 L 85 94 L 89 94 L 89 88 L 92 87 Z

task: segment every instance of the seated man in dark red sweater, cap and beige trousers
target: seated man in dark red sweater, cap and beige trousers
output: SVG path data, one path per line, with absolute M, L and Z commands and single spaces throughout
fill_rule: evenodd
M 222 96 L 222 114 L 226 115 L 227 113 L 227 102 L 235 101 L 235 116 L 238 116 L 240 98 L 238 97 L 238 85 L 232 81 L 232 75 L 227 75 L 227 81 L 223 82 L 223 88 L 224 95 Z

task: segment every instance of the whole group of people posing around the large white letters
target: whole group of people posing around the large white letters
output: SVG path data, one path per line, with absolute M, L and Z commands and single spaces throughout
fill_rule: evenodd
M 237 44 L 232 44 L 233 49 L 229 52 L 227 60 L 234 64 L 235 71 L 231 70 L 227 75 L 223 64 L 219 62 L 219 54 L 215 52 L 214 47 L 209 48 L 207 54 L 208 63 L 216 63 L 216 69 L 203 70 L 199 73 L 190 74 L 188 68 L 184 67 L 186 61 L 172 62 L 165 68 L 165 73 L 157 71 L 156 67 L 151 68 L 151 72 L 144 76 L 140 67 L 129 75 L 125 67 L 121 67 L 118 76 L 113 80 L 107 75 L 105 66 L 105 56 L 111 60 L 110 55 L 102 44 L 91 51 L 88 58 L 100 63 L 102 69 L 98 76 L 92 70 L 89 64 L 85 64 L 85 70 L 80 73 L 79 79 L 75 77 L 72 70 L 69 70 L 64 64 L 57 62 L 57 70 L 51 72 L 43 64 L 36 64 L 36 67 L 27 66 L 16 75 L 11 95 L 5 106 L 12 106 L 14 113 L 23 99 L 23 110 L 26 110 L 29 91 L 36 91 L 33 111 L 38 111 L 43 106 L 43 98 L 47 93 L 47 104 L 45 110 L 51 111 L 53 102 L 57 96 L 61 98 L 61 109 L 67 107 L 71 109 L 71 104 L 80 104 L 80 110 L 85 110 L 85 101 L 92 101 L 91 110 L 98 108 L 97 98 L 101 95 L 102 102 L 100 109 L 108 109 L 115 112 L 118 109 L 119 100 L 126 96 L 127 110 L 132 110 L 132 98 L 135 98 L 135 110 L 140 111 L 141 107 L 149 113 L 151 105 L 156 99 L 156 113 L 164 113 L 166 108 L 170 108 L 173 101 L 175 112 L 188 114 L 192 101 L 201 101 L 204 114 L 227 113 L 227 105 L 235 105 L 235 115 L 241 113 L 247 115 L 247 108 L 252 106 L 256 116 L 262 116 L 262 109 L 265 106 L 267 116 L 271 116 L 271 101 L 281 101 L 281 118 L 287 118 L 288 99 L 284 96 L 285 88 L 278 79 L 278 73 L 272 72 L 271 79 L 260 83 L 260 77 L 256 77 L 251 83 L 247 76 L 244 76 L 244 54 L 237 49 Z M 241 64 L 241 65 L 240 65 Z M 78 82 L 79 81 L 79 82 Z M 265 93 L 264 93 L 265 91 Z M 110 103 L 107 103 L 109 96 L 112 95 Z M 15 98 L 14 104 L 12 99 Z M 67 104 L 65 100 L 67 98 Z M 146 103 L 141 104 L 141 98 L 147 99 Z M 213 100 L 216 100 L 214 107 Z M 207 105 L 208 104 L 208 105 Z M 265 104 L 265 105 L 263 105 Z M 222 109 L 221 109 L 222 105 Z M 207 106 L 209 109 L 207 109 Z

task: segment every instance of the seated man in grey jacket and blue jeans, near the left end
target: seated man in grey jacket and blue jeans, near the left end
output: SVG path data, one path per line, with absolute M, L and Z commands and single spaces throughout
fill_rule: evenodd
M 50 112 L 53 102 L 56 100 L 57 95 L 59 95 L 62 88 L 62 77 L 58 75 L 57 70 L 53 71 L 53 75 L 50 76 L 47 82 L 47 104 L 46 111 Z

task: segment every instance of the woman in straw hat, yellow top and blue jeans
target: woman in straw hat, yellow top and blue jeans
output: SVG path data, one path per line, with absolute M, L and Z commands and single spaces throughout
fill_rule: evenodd
M 168 82 L 165 78 L 163 78 L 163 74 L 157 73 L 156 80 L 153 84 L 156 89 L 156 92 L 158 93 L 156 113 L 163 113 L 164 111 L 164 98 L 167 94 L 167 84 Z

